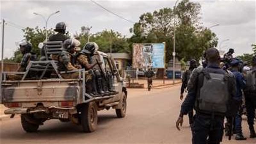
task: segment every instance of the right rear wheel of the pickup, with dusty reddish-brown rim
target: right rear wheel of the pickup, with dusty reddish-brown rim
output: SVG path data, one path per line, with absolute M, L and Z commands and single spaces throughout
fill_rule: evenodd
M 98 110 L 95 102 L 84 104 L 81 107 L 81 126 L 83 132 L 96 130 L 98 122 Z

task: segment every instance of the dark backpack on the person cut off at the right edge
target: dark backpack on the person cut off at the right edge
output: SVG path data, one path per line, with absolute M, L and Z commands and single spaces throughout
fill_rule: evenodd
M 256 91 L 256 70 L 248 71 L 245 76 L 246 79 L 246 89 L 249 91 Z

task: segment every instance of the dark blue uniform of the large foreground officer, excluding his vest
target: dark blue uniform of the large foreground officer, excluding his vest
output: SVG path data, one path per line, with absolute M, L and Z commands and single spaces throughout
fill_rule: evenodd
M 204 75 L 201 75 L 203 68 L 197 68 L 192 72 L 188 84 L 188 95 L 186 96 L 180 110 L 181 115 L 186 115 L 190 112 L 196 101 L 196 97 L 203 85 Z M 217 64 L 209 64 L 208 72 L 217 74 L 226 74 Z M 228 89 L 230 97 L 236 94 L 236 80 L 232 74 L 228 77 Z M 223 136 L 224 115 L 213 115 L 200 112 L 195 109 L 194 123 L 192 126 L 192 143 L 206 144 L 208 137 L 208 144 L 219 144 Z

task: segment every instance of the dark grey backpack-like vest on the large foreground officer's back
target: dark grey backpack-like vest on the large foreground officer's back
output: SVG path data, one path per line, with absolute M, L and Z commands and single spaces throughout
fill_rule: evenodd
M 204 75 L 203 85 L 199 89 L 197 98 L 197 109 L 205 113 L 227 112 L 229 100 L 227 74 L 209 73 L 206 69 L 202 70 Z

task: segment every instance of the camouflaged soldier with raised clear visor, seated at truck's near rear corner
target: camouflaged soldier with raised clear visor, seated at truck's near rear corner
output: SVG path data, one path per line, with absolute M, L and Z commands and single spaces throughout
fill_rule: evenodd
M 74 71 L 81 67 L 76 64 L 76 47 L 80 46 L 79 40 L 67 39 L 63 43 L 63 51 L 58 57 L 58 71 Z M 78 78 L 79 72 L 63 73 L 61 74 L 64 79 Z

